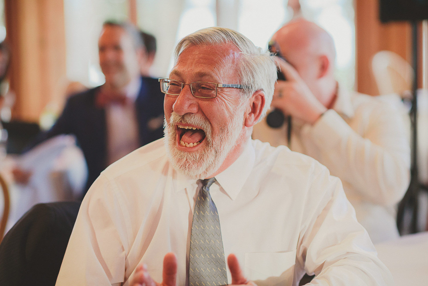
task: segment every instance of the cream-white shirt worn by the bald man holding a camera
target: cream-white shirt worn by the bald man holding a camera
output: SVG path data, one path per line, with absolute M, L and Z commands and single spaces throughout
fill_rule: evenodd
M 287 145 L 287 126 L 253 128 L 253 139 Z M 342 180 L 358 221 L 374 243 L 398 238 L 395 204 L 410 182 L 410 147 L 401 111 L 373 96 L 339 89 L 333 109 L 314 125 L 293 119 L 289 147 Z

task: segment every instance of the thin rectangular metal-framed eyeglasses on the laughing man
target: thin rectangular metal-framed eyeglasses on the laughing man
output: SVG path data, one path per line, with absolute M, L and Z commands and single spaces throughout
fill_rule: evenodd
M 194 97 L 214 98 L 217 96 L 217 87 L 245 88 L 241 84 L 208 83 L 195 81 L 193 83 L 183 83 L 180 80 L 170 80 L 169 78 L 160 78 L 160 90 L 169 95 L 180 95 L 184 85 L 190 85 L 190 91 Z

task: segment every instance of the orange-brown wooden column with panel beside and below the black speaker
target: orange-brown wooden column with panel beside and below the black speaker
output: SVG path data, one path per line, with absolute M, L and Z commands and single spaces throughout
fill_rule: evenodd
M 379 94 L 372 74 L 372 57 L 377 51 L 389 50 L 411 63 L 411 27 L 407 22 L 382 24 L 378 0 L 355 1 L 356 90 Z

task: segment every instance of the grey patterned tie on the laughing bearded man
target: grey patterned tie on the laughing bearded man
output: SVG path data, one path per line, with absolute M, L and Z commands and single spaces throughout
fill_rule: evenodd
M 190 236 L 189 286 L 227 285 L 220 220 L 209 193 L 215 178 L 201 182 Z

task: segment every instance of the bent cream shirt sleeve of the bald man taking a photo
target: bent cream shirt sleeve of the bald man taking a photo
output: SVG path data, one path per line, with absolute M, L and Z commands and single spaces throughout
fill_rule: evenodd
M 328 110 L 315 125 L 303 128 L 302 141 L 308 150 L 322 150 L 314 158 L 343 182 L 351 184 L 349 191 L 389 206 L 401 200 L 409 185 L 410 147 L 397 110 L 387 104 L 377 105 L 380 108 L 372 108 L 371 112 L 365 111 L 359 114 L 360 118 L 353 119 L 367 120 L 365 130 L 359 130 L 363 135 L 354 131 L 336 111 Z

